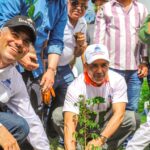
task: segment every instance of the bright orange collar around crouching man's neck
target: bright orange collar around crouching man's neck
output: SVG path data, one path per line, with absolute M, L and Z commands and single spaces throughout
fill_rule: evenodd
M 100 87 L 102 86 L 104 83 L 107 83 L 109 81 L 108 77 L 100 84 L 98 85 L 96 82 L 92 81 L 91 78 L 89 77 L 87 72 L 84 72 L 84 82 L 87 85 L 92 85 L 94 87 Z

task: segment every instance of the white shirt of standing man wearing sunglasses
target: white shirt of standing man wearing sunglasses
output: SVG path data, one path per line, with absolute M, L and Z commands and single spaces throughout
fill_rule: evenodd
M 87 24 L 84 17 L 80 18 L 75 28 L 70 23 L 69 19 L 64 30 L 64 49 L 61 54 L 58 66 L 69 64 L 74 58 L 74 48 L 76 46 L 75 33 L 82 32 L 86 36 Z

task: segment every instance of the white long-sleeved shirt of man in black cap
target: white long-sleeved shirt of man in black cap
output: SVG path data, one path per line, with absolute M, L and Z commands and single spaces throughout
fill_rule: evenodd
M 28 122 L 28 140 L 34 149 L 50 149 L 42 123 L 31 106 L 25 83 L 15 65 L 0 69 L 0 101 Z

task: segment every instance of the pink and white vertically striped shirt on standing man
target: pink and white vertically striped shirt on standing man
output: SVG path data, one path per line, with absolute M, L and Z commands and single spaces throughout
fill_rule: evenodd
M 111 0 L 97 13 L 94 43 L 108 47 L 111 68 L 137 70 L 140 58 L 147 56 L 147 46 L 138 38 L 147 14 L 146 7 L 137 0 L 132 0 L 128 11 L 117 0 Z

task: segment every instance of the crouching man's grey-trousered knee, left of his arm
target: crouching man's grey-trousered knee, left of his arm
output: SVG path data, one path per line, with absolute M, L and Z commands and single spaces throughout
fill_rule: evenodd
M 52 113 L 52 120 L 55 125 L 60 125 L 63 122 L 63 111 L 62 107 L 57 107 Z

